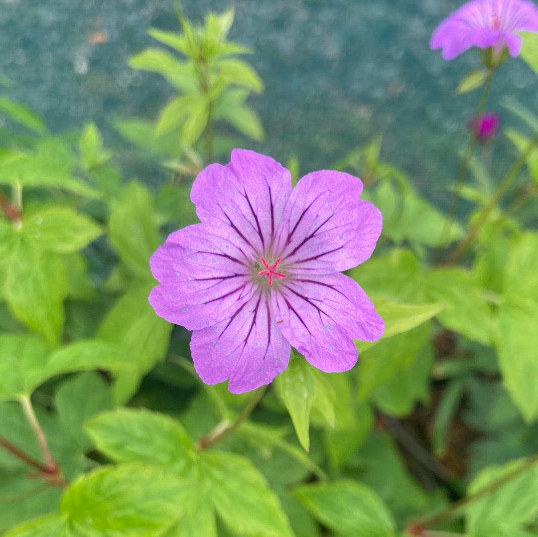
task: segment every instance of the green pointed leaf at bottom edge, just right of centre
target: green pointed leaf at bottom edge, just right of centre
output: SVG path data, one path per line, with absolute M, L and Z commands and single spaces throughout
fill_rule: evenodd
M 390 537 L 394 520 L 381 498 L 369 487 L 354 481 L 305 485 L 296 496 L 325 526 L 343 535 Z

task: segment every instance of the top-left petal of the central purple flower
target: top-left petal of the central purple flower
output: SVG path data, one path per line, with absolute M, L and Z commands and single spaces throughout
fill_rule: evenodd
M 212 164 L 197 176 L 190 199 L 202 222 L 231 227 L 236 244 L 250 245 L 259 258 L 279 227 L 291 191 L 291 175 L 277 161 L 236 149 L 228 165 Z

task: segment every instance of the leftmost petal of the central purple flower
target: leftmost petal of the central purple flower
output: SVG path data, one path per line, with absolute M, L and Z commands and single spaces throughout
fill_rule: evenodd
M 161 285 L 150 293 L 157 315 L 188 330 L 230 317 L 250 299 L 256 286 L 245 257 L 206 224 L 189 225 L 169 235 L 150 259 Z

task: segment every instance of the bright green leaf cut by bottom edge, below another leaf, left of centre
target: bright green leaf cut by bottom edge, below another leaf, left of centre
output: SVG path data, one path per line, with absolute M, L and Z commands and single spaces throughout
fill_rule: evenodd
M 181 513 L 183 486 L 158 468 L 126 464 L 81 476 L 66 491 L 60 512 L 83 535 L 160 535 Z

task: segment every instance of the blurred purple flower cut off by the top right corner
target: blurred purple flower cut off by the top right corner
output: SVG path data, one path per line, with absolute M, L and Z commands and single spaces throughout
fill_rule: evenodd
M 538 9 L 526 0 L 471 0 L 437 26 L 430 48 L 442 48 L 445 60 L 456 58 L 472 46 L 493 47 L 499 56 L 504 47 L 511 56 L 521 49 L 519 31 L 538 32 Z

